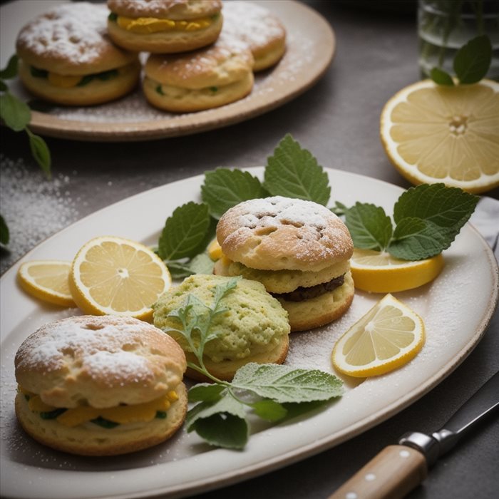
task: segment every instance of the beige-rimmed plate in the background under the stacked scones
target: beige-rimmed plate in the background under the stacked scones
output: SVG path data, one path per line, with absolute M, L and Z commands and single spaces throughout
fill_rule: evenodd
M 18 0 L 1 7 L 2 68 L 15 51 L 21 27 L 58 3 L 61 1 Z M 286 27 L 287 51 L 277 66 L 256 73 L 252 93 L 240 101 L 197 113 L 175 114 L 149 106 L 138 89 L 101 106 L 55 106 L 46 113 L 34 111 L 30 128 L 42 135 L 73 140 L 150 140 L 213 130 L 282 106 L 314 85 L 324 74 L 336 48 L 334 32 L 320 14 L 298 1 L 264 0 L 259 3 L 279 17 Z M 26 100 L 30 98 L 17 80 L 11 84 L 11 90 Z

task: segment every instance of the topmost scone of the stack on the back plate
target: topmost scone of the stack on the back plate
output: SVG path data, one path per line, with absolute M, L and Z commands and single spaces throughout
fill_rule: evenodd
M 220 0 L 108 0 L 109 36 L 132 51 L 175 53 L 213 43 L 222 29 Z

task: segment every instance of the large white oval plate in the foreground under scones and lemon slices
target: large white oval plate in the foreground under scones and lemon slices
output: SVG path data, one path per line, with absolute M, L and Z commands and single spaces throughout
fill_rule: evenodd
M 252 168 L 262 177 L 263 168 Z M 337 170 L 327 170 L 332 200 L 352 205 L 374 202 L 390 213 L 400 187 Z M 21 259 L 73 259 L 98 235 L 119 235 L 154 245 L 166 217 L 189 200 L 200 200 L 203 175 L 163 185 L 111 205 L 59 232 Z M 1 495 L 62 499 L 178 497 L 221 487 L 298 461 L 335 446 L 386 420 L 423 396 L 456 368 L 478 343 L 498 299 L 493 253 L 469 224 L 445 252 L 446 267 L 431 284 L 397 293 L 423 317 L 427 340 L 406 366 L 377 378 L 346 383 L 345 394 L 321 411 L 287 424 L 255 423 L 244 451 L 210 448 L 195 434 L 179 431 L 147 451 L 115 458 L 81 458 L 38 445 L 24 435 L 14 415 L 14 355 L 38 326 L 79 314 L 43 305 L 16 284 L 21 262 L 0 279 L 1 296 Z M 473 313 L 468 299 L 473 296 Z M 380 294 L 357 292 L 349 312 L 324 328 L 292 334 L 287 364 L 331 371 L 336 339 Z M 71 493 L 68 487 L 71 484 Z

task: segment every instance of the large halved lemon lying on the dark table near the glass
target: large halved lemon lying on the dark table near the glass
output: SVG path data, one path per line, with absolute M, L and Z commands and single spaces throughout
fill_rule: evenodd
M 444 182 L 468 192 L 499 185 L 499 83 L 439 86 L 431 80 L 396 93 L 381 112 L 381 142 L 413 184 Z

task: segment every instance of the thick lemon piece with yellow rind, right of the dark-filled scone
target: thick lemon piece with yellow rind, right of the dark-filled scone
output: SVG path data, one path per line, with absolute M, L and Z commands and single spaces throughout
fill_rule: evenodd
M 443 269 L 443 256 L 410 262 L 387 252 L 354 249 L 350 260 L 356 289 L 372 293 L 395 293 L 433 281 Z

